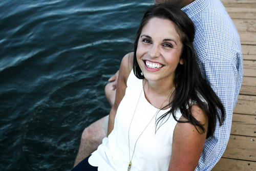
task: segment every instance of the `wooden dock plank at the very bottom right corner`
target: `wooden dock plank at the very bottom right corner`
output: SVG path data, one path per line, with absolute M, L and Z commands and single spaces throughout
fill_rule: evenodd
M 211 171 L 254 171 L 255 168 L 256 162 L 221 158 Z

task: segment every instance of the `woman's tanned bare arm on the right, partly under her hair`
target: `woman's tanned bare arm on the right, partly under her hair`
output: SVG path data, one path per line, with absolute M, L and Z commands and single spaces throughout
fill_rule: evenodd
M 203 130 L 197 126 L 200 134 L 191 123 L 177 123 L 168 171 L 194 171 L 196 169 L 206 139 L 208 119 L 198 105 L 191 107 L 191 114 L 204 125 L 206 132 L 203 133 Z M 181 117 L 180 120 L 186 121 L 184 117 Z

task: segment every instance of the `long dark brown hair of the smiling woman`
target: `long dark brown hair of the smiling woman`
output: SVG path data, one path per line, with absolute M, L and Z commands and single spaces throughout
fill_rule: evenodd
M 204 111 L 208 118 L 208 131 L 206 138 L 212 137 L 216 129 L 217 119 L 220 125 L 223 124 L 225 119 L 224 106 L 220 99 L 211 89 L 209 82 L 203 78 L 198 62 L 195 55 L 195 49 L 193 41 L 195 37 L 195 28 L 191 19 L 180 9 L 170 6 L 168 4 L 159 4 L 150 7 L 144 14 L 139 29 L 136 34 L 136 40 L 134 44 L 134 56 L 133 56 L 133 71 L 137 78 L 143 79 L 141 69 L 138 65 L 136 51 L 138 47 L 138 40 L 143 27 L 148 23 L 151 18 L 158 17 L 168 19 L 175 24 L 176 31 L 178 32 L 181 42 L 183 44 L 181 58 L 183 59 L 183 65 L 178 65 L 175 71 L 174 85 L 175 92 L 172 94 L 173 100 L 169 100 L 169 104 L 166 106 L 172 106 L 170 110 L 160 116 L 156 120 L 156 131 L 164 124 L 165 117 L 173 115 L 177 122 L 190 122 L 195 125 L 196 129 L 199 126 L 205 133 L 203 125 L 193 117 L 191 114 L 191 107 L 196 102 L 197 105 Z M 206 103 L 202 100 L 202 98 Z M 166 107 L 164 106 L 164 108 Z M 162 108 L 163 109 L 163 108 Z M 180 110 L 182 116 L 188 121 L 179 121 L 175 117 L 175 112 Z M 220 112 L 220 115 L 218 113 Z M 158 126 L 158 128 L 157 128 Z M 197 129 L 199 132 L 199 130 Z M 200 133 L 200 132 L 199 132 Z

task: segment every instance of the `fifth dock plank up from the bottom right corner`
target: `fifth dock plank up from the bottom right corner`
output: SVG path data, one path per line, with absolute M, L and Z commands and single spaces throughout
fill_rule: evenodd
M 243 77 L 240 94 L 256 95 L 256 77 Z

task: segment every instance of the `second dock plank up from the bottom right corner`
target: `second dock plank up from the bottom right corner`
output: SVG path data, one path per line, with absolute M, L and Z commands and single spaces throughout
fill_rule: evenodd
M 222 157 L 256 161 L 256 137 L 230 135 Z

